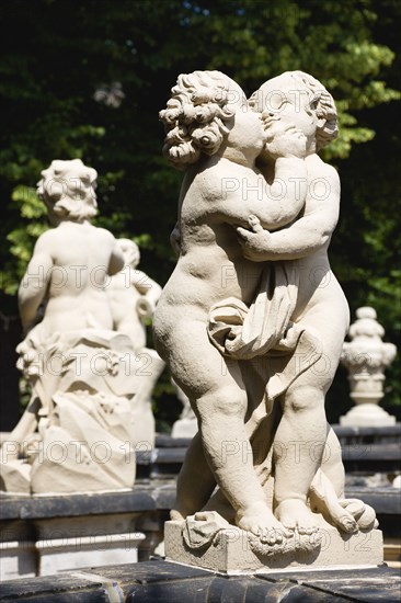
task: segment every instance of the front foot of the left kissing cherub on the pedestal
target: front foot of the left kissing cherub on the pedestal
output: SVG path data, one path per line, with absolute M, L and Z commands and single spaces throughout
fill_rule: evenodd
M 290 536 L 290 533 L 264 503 L 256 503 L 244 511 L 239 511 L 237 525 L 245 532 L 251 532 L 265 545 L 280 545 Z

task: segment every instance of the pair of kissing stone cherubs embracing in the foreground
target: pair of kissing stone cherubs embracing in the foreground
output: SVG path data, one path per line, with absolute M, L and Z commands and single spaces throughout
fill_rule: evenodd
M 186 519 L 191 546 L 205 512 L 218 511 L 261 550 L 295 533 L 300 548 L 318 546 L 322 515 L 344 532 L 371 526 L 371 510 L 342 498 L 324 413 L 348 326 L 326 257 L 340 182 L 317 155 L 336 136 L 331 95 L 297 71 L 248 103 L 222 73 L 195 71 L 179 77 L 160 116 L 164 153 L 186 171 L 172 234 L 180 255 L 154 335 L 199 424 L 172 519 Z

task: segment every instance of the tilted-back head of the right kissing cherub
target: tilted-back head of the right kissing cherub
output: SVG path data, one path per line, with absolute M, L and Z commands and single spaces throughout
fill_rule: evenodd
M 323 84 L 303 71 L 286 71 L 263 83 L 249 100 L 268 127 L 279 120 L 294 125 L 308 138 L 310 152 L 319 151 L 337 137 L 337 113 Z

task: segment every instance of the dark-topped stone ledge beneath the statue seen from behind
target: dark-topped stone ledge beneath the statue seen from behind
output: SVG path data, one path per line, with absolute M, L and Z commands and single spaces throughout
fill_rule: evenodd
M 0 580 L 147 560 L 162 538 L 161 524 L 146 490 L 1 494 Z

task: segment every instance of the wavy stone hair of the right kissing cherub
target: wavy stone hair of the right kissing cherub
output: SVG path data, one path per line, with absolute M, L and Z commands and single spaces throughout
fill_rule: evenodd
M 317 129 L 317 150 L 319 151 L 326 145 L 329 145 L 334 138 L 339 135 L 339 123 L 337 123 L 337 112 L 335 109 L 335 103 L 333 96 L 324 88 L 324 86 L 303 71 L 285 71 L 274 80 L 280 78 L 290 77 L 294 80 L 295 88 L 298 90 L 306 90 L 311 96 L 311 107 L 316 111 L 316 114 L 319 118 L 324 118 L 324 124 Z M 263 83 L 256 92 L 252 94 L 249 100 L 250 106 L 260 113 L 266 109 L 264 106 L 264 88 L 270 84 L 271 80 Z M 279 88 L 277 88 L 279 90 Z

